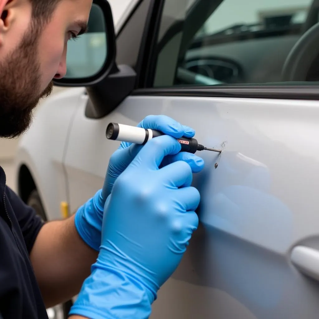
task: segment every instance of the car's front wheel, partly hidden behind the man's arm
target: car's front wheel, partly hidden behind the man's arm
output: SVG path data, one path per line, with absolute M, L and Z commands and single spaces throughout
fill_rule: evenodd
M 38 216 L 41 217 L 43 221 L 47 221 L 47 216 L 45 214 L 40 195 L 36 189 L 34 189 L 28 200 L 27 205 L 31 206 L 37 213 Z M 72 307 L 72 300 L 68 300 L 67 302 L 57 305 L 52 308 L 47 309 L 47 314 L 49 319 L 68 319 L 69 311 Z

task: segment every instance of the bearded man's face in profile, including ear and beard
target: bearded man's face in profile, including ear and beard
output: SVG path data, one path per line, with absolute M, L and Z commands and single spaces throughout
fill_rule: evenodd
M 83 32 L 91 6 L 92 0 L 61 0 L 39 28 L 28 0 L 0 0 L 0 137 L 23 133 L 52 79 L 65 76 L 67 42 Z

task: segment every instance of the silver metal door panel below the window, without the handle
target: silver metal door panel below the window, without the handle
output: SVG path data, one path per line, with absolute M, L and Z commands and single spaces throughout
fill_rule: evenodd
M 199 143 L 223 148 L 198 152 L 200 227 L 152 318 L 317 318 L 319 285 L 293 266 L 290 252 L 319 245 L 318 102 L 130 96 L 98 120 L 85 118 L 85 105 L 65 161 L 74 210 L 102 187 L 120 144 L 106 139 L 109 122 L 165 114 L 193 127 Z

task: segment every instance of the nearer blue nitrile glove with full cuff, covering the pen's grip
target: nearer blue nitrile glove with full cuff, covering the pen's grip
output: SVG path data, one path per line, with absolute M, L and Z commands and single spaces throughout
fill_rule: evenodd
M 177 268 L 198 226 L 194 211 L 200 196 L 190 187 L 189 164 L 177 161 L 159 169 L 165 156 L 180 149 L 173 137 L 156 137 L 115 181 L 104 208 L 98 259 L 70 315 L 149 317 L 159 287 Z

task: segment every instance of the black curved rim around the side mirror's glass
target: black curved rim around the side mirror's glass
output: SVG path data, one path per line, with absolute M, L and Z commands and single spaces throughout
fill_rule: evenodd
M 75 87 L 75 86 L 94 86 L 98 83 L 103 82 L 109 74 L 115 73 L 118 71 L 115 64 L 116 57 L 116 43 L 115 43 L 115 31 L 114 31 L 114 22 L 112 9 L 107 0 L 93 0 L 93 4 L 96 4 L 100 7 L 104 15 L 105 27 L 106 27 L 106 41 L 107 41 L 107 56 L 106 60 L 98 71 L 90 77 L 85 78 L 62 78 L 54 79 L 53 84 L 57 86 L 65 87 Z

